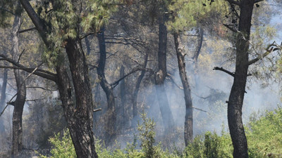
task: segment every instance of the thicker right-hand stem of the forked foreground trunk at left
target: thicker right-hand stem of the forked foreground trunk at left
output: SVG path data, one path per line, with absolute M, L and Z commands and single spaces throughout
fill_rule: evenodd
M 71 138 L 78 157 L 97 157 L 94 148 L 93 100 L 92 89 L 88 77 L 88 67 L 85 54 L 82 51 L 80 39 L 68 39 L 66 53 L 71 63 L 71 76 L 75 88 L 76 107 L 73 117 L 68 118 Z M 70 91 L 68 91 L 70 93 Z

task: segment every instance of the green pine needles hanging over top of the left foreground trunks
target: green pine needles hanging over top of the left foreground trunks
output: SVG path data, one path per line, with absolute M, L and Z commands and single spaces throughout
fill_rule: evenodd
M 50 48 L 42 55 L 49 66 L 56 65 L 63 58 L 63 48 L 68 39 L 80 38 L 80 34 L 98 32 L 116 11 L 118 1 L 92 0 L 75 4 L 71 0 L 37 3 L 37 13 L 45 23 Z M 82 32 L 81 32 L 82 31 Z M 61 58 L 60 58 L 61 57 Z

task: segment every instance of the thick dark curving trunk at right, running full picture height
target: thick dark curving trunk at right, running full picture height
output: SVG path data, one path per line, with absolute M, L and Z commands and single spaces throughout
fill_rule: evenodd
M 239 32 L 236 41 L 236 67 L 233 86 L 228 100 L 228 126 L 234 147 L 233 157 L 248 157 L 242 107 L 248 69 L 248 49 L 254 0 L 240 2 Z

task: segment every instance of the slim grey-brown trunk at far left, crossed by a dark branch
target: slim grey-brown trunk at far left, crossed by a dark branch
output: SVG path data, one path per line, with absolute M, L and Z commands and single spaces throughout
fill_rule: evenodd
M 20 29 L 21 13 L 20 4 L 17 3 L 16 8 L 18 13 L 16 13 L 13 20 L 13 28 L 11 32 L 12 40 L 12 56 L 13 60 L 17 61 L 20 56 L 19 51 L 19 41 L 18 41 L 18 30 Z M 21 70 L 14 70 L 17 93 L 16 101 L 13 103 L 13 139 L 12 139 L 12 157 L 19 157 L 20 151 L 23 150 L 23 107 L 25 105 L 26 98 L 26 86 L 23 79 L 23 72 Z

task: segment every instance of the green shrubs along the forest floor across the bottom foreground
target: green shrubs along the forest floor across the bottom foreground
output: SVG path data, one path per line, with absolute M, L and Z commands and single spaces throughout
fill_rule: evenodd
M 137 138 L 133 143 L 127 145 L 124 150 L 107 150 L 101 141 L 96 142 L 97 154 L 99 157 L 111 158 L 147 158 L 147 157 L 167 157 L 167 158 L 226 158 L 233 157 L 233 145 L 229 133 L 221 131 L 217 133 L 207 132 L 204 136 L 196 136 L 193 143 L 185 147 L 183 152 L 174 151 L 173 153 L 163 150 L 161 144 L 155 145 L 154 142 L 154 121 L 147 118 L 146 114 L 141 115 L 143 123 L 139 124 L 140 131 L 137 137 L 141 141 L 140 149 L 137 149 Z M 276 157 L 282 154 L 282 107 L 278 107 L 274 112 L 266 112 L 265 116 L 252 118 L 246 129 L 250 157 Z M 62 139 L 57 134 L 50 138 L 54 145 L 51 150 L 53 157 L 75 157 L 71 137 L 68 131 L 64 131 Z M 44 157 L 44 156 L 42 156 Z

